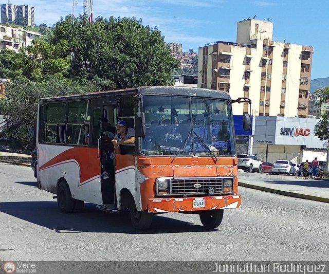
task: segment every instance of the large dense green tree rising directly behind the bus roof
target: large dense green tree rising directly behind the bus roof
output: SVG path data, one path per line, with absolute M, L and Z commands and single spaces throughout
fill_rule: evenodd
M 158 28 L 145 27 L 141 20 L 98 18 L 90 24 L 83 16 L 74 22 L 67 16 L 53 35 L 54 45 L 68 42 L 71 75 L 98 81 L 102 89 L 174 83 L 170 72 L 178 61 L 165 48 Z

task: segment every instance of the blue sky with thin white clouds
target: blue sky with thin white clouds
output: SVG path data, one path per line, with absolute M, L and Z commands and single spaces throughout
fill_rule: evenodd
M 52 26 L 61 16 L 82 13 L 82 0 L 12 0 L 34 7 L 35 24 Z M 273 41 L 313 46 L 311 79 L 329 77 L 327 0 L 93 0 L 94 17 L 132 17 L 158 27 L 165 42 L 184 51 L 215 41 L 236 42 L 237 22 L 253 17 L 273 22 Z

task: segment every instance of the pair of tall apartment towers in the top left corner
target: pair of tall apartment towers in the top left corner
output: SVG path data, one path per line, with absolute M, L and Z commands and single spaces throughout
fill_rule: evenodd
M 34 7 L 29 5 L 16 6 L 12 4 L 1 5 L 1 22 L 4 23 L 6 18 L 9 22 L 14 23 L 17 17 L 25 17 L 28 26 L 34 26 Z

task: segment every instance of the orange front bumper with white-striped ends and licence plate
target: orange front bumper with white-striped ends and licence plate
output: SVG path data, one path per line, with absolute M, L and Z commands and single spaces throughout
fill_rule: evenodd
M 241 208 L 241 196 L 210 196 L 187 198 L 152 198 L 149 199 L 149 213 L 193 212 L 200 210 L 214 210 L 227 208 Z

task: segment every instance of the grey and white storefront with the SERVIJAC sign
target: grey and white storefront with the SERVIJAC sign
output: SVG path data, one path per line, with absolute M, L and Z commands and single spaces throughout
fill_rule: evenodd
M 320 119 L 257 116 L 254 121 L 254 155 L 261 160 L 301 162 L 304 149 L 323 149 L 325 141 L 314 135 Z M 309 159 L 311 160 L 311 159 Z

